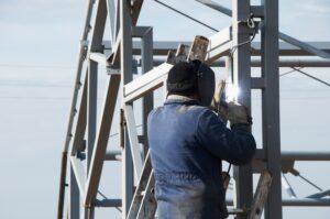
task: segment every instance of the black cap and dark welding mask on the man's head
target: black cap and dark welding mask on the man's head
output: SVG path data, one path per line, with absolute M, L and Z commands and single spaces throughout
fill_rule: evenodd
M 180 62 L 168 73 L 167 90 L 169 94 L 198 94 L 202 106 L 209 106 L 215 95 L 215 73 L 198 59 Z

